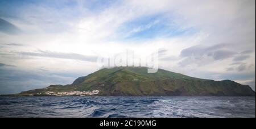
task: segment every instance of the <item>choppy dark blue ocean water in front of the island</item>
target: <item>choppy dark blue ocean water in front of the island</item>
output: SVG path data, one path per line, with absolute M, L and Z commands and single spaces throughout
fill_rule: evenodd
M 0 117 L 255 118 L 255 97 L 0 97 Z

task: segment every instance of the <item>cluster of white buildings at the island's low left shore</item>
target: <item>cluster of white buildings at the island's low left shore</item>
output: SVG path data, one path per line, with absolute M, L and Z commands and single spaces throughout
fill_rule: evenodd
M 46 91 L 47 95 L 55 95 L 55 96 L 85 96 L 85 95 L 96 95 L 100 93 L 100 90 L 93 90 L 93 91 L 69 91 L 69 92 L 53 92 L 53 91 Z

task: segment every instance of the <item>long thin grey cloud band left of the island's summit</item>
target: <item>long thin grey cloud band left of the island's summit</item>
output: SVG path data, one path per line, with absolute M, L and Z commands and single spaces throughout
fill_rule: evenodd
M 97 56 L 85 56 L 77 53 L 65 53 L 65 52 L 38 51 L 38 52 L 19 52 L 19 54 L 22 56 L 72 59 L 72 60 L 92 61 L 92 62 L 96 62 L 97 60 Z

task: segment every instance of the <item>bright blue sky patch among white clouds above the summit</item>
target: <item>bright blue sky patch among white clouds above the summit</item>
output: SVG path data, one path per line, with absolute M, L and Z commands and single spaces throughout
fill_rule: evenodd
M 163 14 L 143 16 L 123 23 L 119 27 L 123 39 L 152 39 L 171 36 L 193 34 L 194 28 L 181 29 L 175 24 L 172 18 L 167 18 Z

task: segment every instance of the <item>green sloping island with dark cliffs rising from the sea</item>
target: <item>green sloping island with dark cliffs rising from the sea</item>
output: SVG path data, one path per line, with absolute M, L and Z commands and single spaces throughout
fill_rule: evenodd
M 193 78 L 159 69 L 147 73 L 146 67 L 116 67 L 101 69 L 77 78 L 71 85 L 53 85 L 45 89 L 22 92 L 21 95 L 46 91 L 92 91 L 112 96 L 255 96 L 250 86 L 224 80 Z

